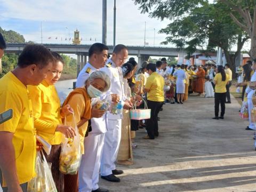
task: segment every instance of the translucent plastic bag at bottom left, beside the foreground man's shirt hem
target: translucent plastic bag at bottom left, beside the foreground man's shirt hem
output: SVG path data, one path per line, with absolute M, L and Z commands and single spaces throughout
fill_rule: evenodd
M 28 182 L 27 192 L 57 192 L 51 169 L 42 151 L 36 156 L 36 177 Z

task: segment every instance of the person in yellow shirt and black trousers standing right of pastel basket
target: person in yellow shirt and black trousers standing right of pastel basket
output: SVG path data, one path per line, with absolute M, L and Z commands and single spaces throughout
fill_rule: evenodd
M 156 65 L 149 63 L 146 67 L 148 74 L 144 92 L 147 92 L 147 104 L 151 109 L 151 117 L 147 120 L 146 129 L 148 135 L 143 139 L 155 139 L 158 137 L 158 113 L 164 103 L 164 78 L 156 73 Z

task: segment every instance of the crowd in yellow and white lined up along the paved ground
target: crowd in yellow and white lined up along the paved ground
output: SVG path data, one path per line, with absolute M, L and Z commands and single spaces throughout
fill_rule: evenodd
M 0 34 L 0 58 L 5 47 Z M 114 47 L 111 57 L 108 46 L 91 45 L 76 89 L 61 105 L 54 86 L 65 65 L 61 55 L 43 45 L 25 46 L 17 67 L 0 79 L 0 113 L 13 110 L 12 118 L 0 124 L 0 183 L 4 191 L 27 191 L 28 182 L 36 176 L 36 151 L 43 150 L 37 135 L 51 145 L 50 154 L 44 155 L 51 163 L 58 191 L 100 192 L 108 189 L 99 187 L 99 174 L 107 181 L 120 182 L 117 175 L 124 172 L 116 169 L 116 163 L 134 163 L 132 150 L 137 147 L 134 138 L 138 129 L 145 127 L 143 139 L 158 137 L 158 114 L 165 103 L 183 104 L 189 94 L 201 96 L 205 92 L 205 97 L 215 98 L 214 119 L 224 118 L 225 103 L 231 103 L 232 71 L 228 64 L 226 70 L 215 65 L 171 66 L 162 58 L 156 63 L 144 61 L 137 69 L 138 63 L 134 58 L 128 60 L 128 55 L 122 44 Z M 252 73 L 255 63 L 252 70 L 243 68 L 245 81 L 237 86 L 256 81 L 256 73 Z M 248 87 L 245 98 L 250 113 L 256 85 Z M 145 108 L 151 110 L 148 119 L 131 118 L 131 110 Z M 72 121 L 75 124 L 67 124 Z M 247 128 L 254 126 L 250 123 Z M 59 165 L 62 142 L 77 136 L 81 164 L 76 174 L 63 174 Z

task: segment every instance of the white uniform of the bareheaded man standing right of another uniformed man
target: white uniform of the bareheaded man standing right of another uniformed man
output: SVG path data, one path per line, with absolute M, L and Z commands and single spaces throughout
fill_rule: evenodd
M 115 63 L 108 59 L 106 66 L 101 71 L 107 73 L 111 85 L 107 94 L 117 94 L 120 100 L 125 100 L 123 73 L 121 67 L 116 67 Z M 113 115 L 107 112 L 107 129 L 105 142 L 101 158 L 101 175 L 107 176 L 112 174 L 116 169 L 115 161 L 117 159 L 118 149 L 121 141 L 122 115 Z

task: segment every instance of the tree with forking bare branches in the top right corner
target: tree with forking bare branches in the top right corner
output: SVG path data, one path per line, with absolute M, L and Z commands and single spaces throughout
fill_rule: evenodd
M 219 0 L 227 5 L 229 15 L 251 38 L 250 56 L 256 58 L 256 1 Z M 237 15 L 238 14 L 238 15 Z

